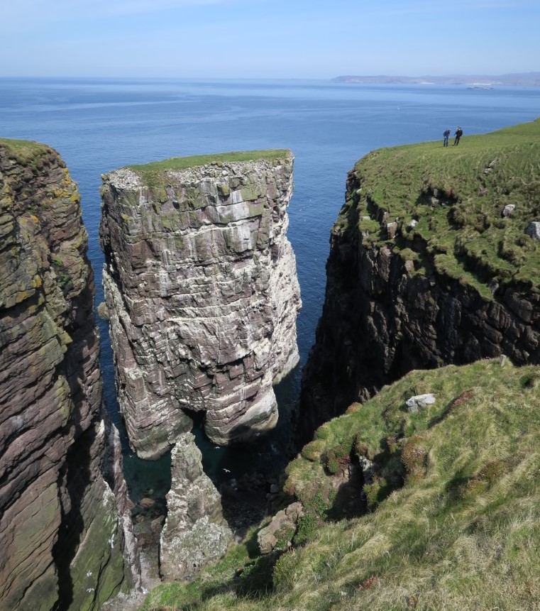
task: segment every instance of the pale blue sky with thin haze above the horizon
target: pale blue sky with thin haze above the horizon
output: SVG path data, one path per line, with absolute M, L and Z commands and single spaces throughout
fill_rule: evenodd
M 0 76 L 536 72 L 539 24 L 540 0 L 1 0 Z

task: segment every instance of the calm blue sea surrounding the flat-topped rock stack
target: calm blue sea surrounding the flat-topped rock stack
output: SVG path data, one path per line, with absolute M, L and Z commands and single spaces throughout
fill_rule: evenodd
M 420 141 L 441 146 L 443 131 L 487 133 L 540 116 L 540 87 L 347 84 L 313 80 L 0 78 L 0 137 L 46 143 L 65 160 L 82 195 L 89 258 L 103 301 L 99 248 L 101 175 L 128 164 L 232 150 L 289 148 L 294 194 L 289 239 L 297 259 L 301 360 L 276 389 L 280 422 L 256 445 L 217 448 L 197 423 L 206 473 L 219 484 L 287 461 L 302 367 L 324 302 L 329 232 L 344 203 L 348 170 L 370 150 Z M 449 148 L 448 154 L 452 150 Z M 121 430 L 126 480 L 135 502 L 165 495 L 170 457 L 142 461 L 128 446 L 116 402 L 108 326 L 101 331 L 104 400 Z M 227 469 L 227 471 L 225 470 Z M 228 472 L 231 472 L 230 474 Z

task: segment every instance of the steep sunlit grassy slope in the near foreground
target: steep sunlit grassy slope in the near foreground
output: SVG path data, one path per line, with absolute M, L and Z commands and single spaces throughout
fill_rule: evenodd
M 235 571 L 248 559 L 237 546 L 143 608 L 537 609 L 539 387 L 538 367 L 483 360 L 414 371 L 353 404 L 288 468 L 307 510 L 292 549 Z M 409 413 L 424 392 L 436 402 Z M 373 462 L 365 495 L 361 462 Z

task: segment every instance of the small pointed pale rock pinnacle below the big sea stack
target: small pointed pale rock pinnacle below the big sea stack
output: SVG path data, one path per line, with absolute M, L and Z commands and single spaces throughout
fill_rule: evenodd
M 192 433 L 178 440 L 171 460 L 160 570 L 165 579 L 185 579 L 221 558 L 233 535 L 221 511 L 219 492 L 202 470 L 201 451 Z

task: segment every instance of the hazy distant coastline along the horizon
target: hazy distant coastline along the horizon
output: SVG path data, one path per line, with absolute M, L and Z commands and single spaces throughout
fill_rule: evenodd
M 540 87 L 540 72 L 520 72 L 509 75 L 446 75 L 423 77 L 395 77 L 389 75 L 356 76 L 346 75 L 331 79 L 335 83 L 371 83 L 371 84 L 434 84 L 434 85 L 468 85 L 470 87 L 492 87 L 495 85 L 514 85 L 522 87 Z

